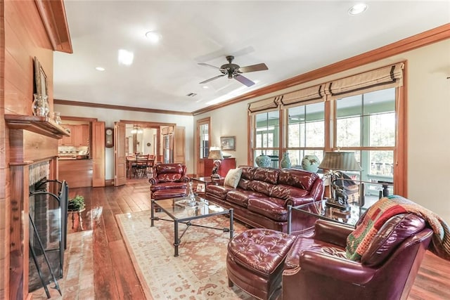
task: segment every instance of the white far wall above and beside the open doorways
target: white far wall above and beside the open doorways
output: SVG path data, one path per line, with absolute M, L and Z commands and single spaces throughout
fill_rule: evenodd
M 87 98 L 87 97 L 86 97 Z M 82 107 L 69 105 L 55 105 L 54 110 L 61 112 L 62 116 L 97 118 L 105 122 L 106 127 L 114 127 L 114 122 L 121 119 L 136 122 L 176 123 L 176 126 L 186 127 L 186 167 L 188 172 L 194 169 L 193 157 L 193 117 L 182 115 L 165 115 L 150 112 L 133 112 L 129 110 L 109 110 L 96 107 Z M 153 142 L 151 142 L 153 144 Z M 105 148 L 105 179 L 114 178 L 114 148 Z

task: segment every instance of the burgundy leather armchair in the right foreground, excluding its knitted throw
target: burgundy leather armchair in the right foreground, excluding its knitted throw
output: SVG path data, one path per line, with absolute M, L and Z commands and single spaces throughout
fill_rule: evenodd
M 345 255 L 353 230 L 318 220 L 314 233 L 298 236 L 285 260 L 283 300 L 407 299 L 432 238 L 425 221 L 416 214 L 388 219 L 360 261 Z

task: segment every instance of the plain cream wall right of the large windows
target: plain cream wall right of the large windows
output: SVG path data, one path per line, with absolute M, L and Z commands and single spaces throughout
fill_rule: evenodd
M 408 195 L 450 223 L 450 40 L 408 58 Z

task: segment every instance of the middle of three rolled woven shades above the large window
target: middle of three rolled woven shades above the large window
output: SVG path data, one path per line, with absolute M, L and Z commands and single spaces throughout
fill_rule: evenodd
M 289 108 L 298 105 L 306 105 L 311 103 L 319 103 L 325 100 L 325 84 L 318 86 L 310 86 L 306 89 L 286 93 L 281 98 L 283 108 Z

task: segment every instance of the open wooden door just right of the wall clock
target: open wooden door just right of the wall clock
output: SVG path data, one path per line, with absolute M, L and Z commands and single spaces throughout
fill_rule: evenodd
M 124 123 L 114 123 L 114 153 L 115 153 L 115 171 L 114 185 L 124 185 L 127 183 L 127 159 L 125 157 L 125 133 L 126 126 Z

